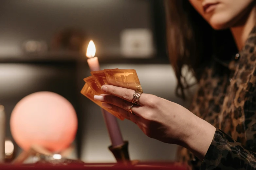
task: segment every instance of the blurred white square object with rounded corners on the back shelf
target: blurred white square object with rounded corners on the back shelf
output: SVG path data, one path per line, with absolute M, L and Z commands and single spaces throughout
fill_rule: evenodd
M 120 34 L 120 50 L 124 57 L 149 58 L 154 55 L 153 35 L 149 29 L 125 29 Z

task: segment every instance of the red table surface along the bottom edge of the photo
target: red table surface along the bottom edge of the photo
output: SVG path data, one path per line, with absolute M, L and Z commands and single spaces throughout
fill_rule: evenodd
M 3 164 L 0 165 L 0 169 L 7 169 L 7 170 L 106 170 L 106 169 L 113 169 L 113 170 L 128 170 L 128 169 L 140 169 L 140 170 L 153 170 L 153 169 L 168 169 L 168 170 L 189 170 L 186 165 L 176 164 L 176 163 L 139 163 L 136 166 L 125 166 L 125 165 L 118 165 L 113 163 L 85 163 L 85 164 L 70 164 L 70 165 L 47 165 L 47 164 L 23 164 L 20 166 L 17 165 L 8 165 Z

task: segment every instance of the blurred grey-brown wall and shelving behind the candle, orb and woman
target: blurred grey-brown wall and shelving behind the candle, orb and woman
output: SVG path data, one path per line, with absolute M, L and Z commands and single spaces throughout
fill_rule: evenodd
M 101 69 L 135 69 L 145 93 L 188 106 L 174 93 L 163 0 L 1 0 L 0 21 L 0 104 L 7 138 L 12 139 L 9 119 L 18 101 L 33 92 L 55 92 L 78 117 L 71 157 L 115 162 L 100 107 L 80 93 L 83 78 L 90 76 L 84 51 L 91 39 Z M 130 121 L 119 125 L 132 160 L 175 159 L 175 145 L 147 137 Z

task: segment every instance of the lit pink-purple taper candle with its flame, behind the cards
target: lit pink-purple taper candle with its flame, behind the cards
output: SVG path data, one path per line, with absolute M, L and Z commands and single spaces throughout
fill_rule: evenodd
M 86 56 L 89 58 L 87 59 L 87 63 L 91 71 L 101 70 L 98 57 L 94 57 L 95 53 L 96 53 L 96 48 L 93 41 L 91 40 L 89 42 L 87 52 L 86 52 Z M 117 118 L 104 109 L 101 109 L 101 112 L 103 114 L 103 117 L 107 126 L 112 147 L 123 144 L 123 137 L 117 122 Z

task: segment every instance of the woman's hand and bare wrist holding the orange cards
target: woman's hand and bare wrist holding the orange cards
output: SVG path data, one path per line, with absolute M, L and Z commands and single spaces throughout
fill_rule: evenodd
M 190 149 L 199 159 L 206 154 L 215 128 L 176 103 L 155 95 L 142 93 L 139 105 L 132 106 L 134 90 L 103 85 L 101 90 L 108 94 L 94 96 L 95 100 L 104 102 L 107 107 L 133 121 L 151 138 L 165 143 L 178 144 Z

